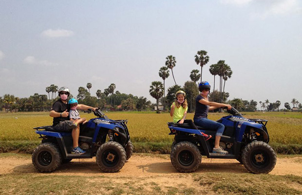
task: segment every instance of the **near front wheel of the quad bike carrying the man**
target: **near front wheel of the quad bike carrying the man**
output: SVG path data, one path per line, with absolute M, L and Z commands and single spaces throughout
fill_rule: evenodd
M 103 172 L 118 172 L 126 162 L 126 151 L 115 141 L 103 143 L 96 152 L 96 163 Z

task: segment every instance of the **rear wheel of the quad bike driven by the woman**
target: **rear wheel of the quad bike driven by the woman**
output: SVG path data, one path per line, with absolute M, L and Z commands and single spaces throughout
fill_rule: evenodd
M 181 141 L 171 151 L 173 167 L 182 173 L 196 171 L 201 162 L 201 154 L 197 146 L 189 141 Z

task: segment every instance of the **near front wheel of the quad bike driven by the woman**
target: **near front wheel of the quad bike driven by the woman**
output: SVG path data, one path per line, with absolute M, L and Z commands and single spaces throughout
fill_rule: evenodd
M 267 174 L 276 165 L 276 153 L 271 146 L 263 141 L 247 144 L 242 152 L 242 163 L 254 174 Z

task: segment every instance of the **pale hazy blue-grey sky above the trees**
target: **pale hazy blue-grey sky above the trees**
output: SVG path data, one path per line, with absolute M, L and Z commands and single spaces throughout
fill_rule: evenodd
M 175 56 L 183 86 L 200 70 L 198 50 L 210 57 L 212 87 L 209 66 L 231 67 L 229 99 L 302 102 L 301 0 L 0 0 L 0 96 L 47 94 L 51 84 L 76 96 L 91 82 L 94 96 L 115 83 L 155 102 L 149 89 L 165 58 Z

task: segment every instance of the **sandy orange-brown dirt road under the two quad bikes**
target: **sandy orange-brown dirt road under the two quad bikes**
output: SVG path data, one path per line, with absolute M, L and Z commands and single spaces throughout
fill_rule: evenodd
M 0 174 L 37 173 L 31 158 L 3 157 L 0 158 Z M 245 167 L 234 159 L 208 159 L 203 157 L 199 169 L 195 173 L 247 173 Z M 55 175 L 77 176 L 170 176 L 179 174 L 170 162 L 169 155 L 133 154 L 118 173 L 102 173 L 93 159 L 73 159 L 61 164 Z M 278 158 L 272 175 L 302 176 L 302 157 Z

